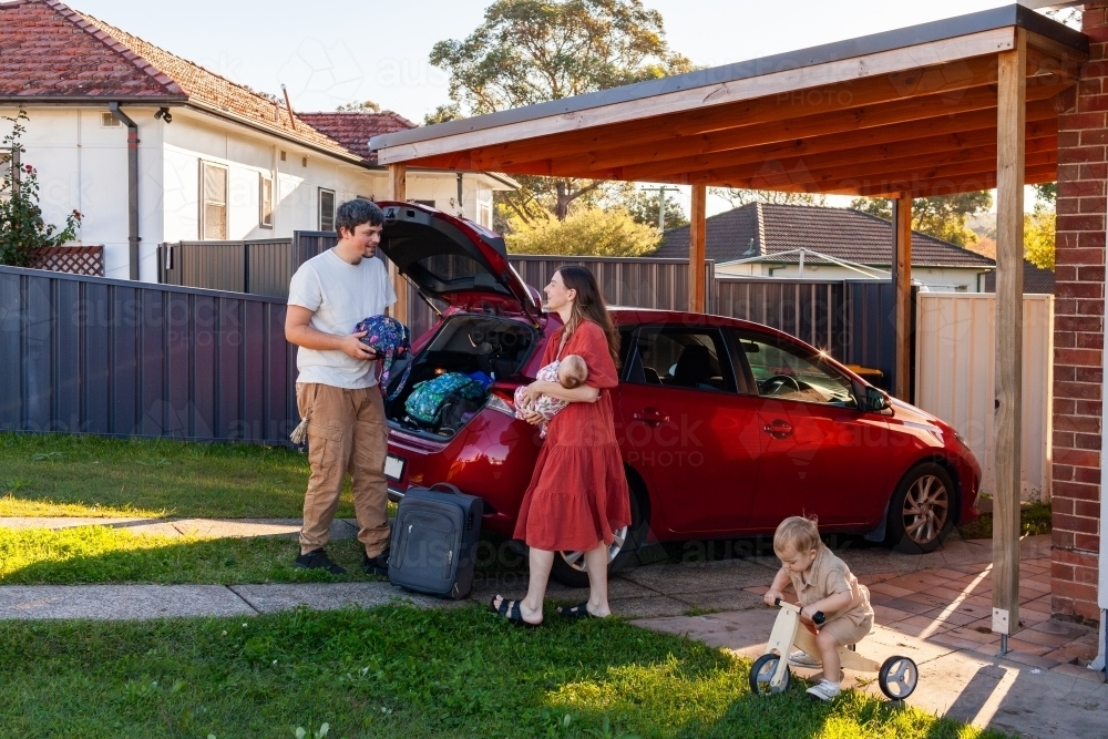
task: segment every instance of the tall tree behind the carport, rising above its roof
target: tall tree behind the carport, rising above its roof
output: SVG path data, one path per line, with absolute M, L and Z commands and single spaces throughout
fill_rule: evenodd
M 455 107 L 440 107 L 432 114 L 435 122 L 443 112 L 483 115 L 693 69 L 688 59 L 670 51 L 661 14 L 644 8 L 642 0 L 495 0 L 464 40 L 434 44 L 431 63 L 450 74 Z M 603 185 L 593 179 L 517 179 L 521 191 L 503 197 L 532 226 L 548 215 L 564 220 L 581 198 L 595 202 Z

